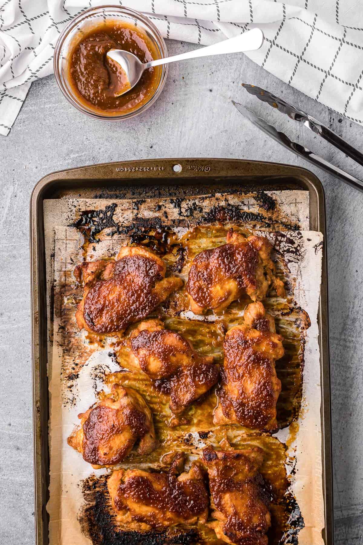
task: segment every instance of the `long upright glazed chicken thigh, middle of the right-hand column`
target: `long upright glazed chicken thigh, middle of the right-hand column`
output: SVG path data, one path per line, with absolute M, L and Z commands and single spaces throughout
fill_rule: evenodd
M 284 348 L 281 335 L 275 332 L 274 319 L 261 302 L 247 306 L 244 324 L 227 331 L 223 348 L 219 404 L 213 422 L 275 429 L 276 402 L 281 391 L 275 360 L 282 358 Z

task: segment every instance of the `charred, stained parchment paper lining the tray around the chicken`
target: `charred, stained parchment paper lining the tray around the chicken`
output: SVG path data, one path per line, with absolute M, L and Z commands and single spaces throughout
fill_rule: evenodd
M 90 475 L 107 474 L 107 470 L 93 470 L 81 455 L 67 445 L 67 437 L 78 422 L 77 415 L 86 410 L 97 399 L 97 392 L 107 389 L 107 377 L 119 371 L 113 357 L 112 339 L 102 344 L 90 342 L 79 332 L 75 324 L 77 287 L 72 271 L 83 259 L 97 259 L 115 255 L 120 245 L 138 241 L 132 239 L 130 226 L 150 225 L 159 218 L 162 225 L 169 225 L 180 237 L 196 223 L 239 225 L 242 231 L 262 231 L 274 244 L 275 254 L 280 258 L 281 275 L 286 280 L 294 308 L 303 310 L 302 324 L 304 357 L 302 396 L 298 416 L 287 419 L 286 426 L 276 435 L 277 440 L 287 445 L 286 469 L 290 476 L 290 491 L 297 500 L 304 519 L 304 527 L 298 534 L 300 545 L 323 543 L 321 530 L 324 527 L 322 458 L 321 458 L 321 387 L 318 347 L 317 311 L 321 282 L 322 234 L 307 231 L 309 225 L 309 198 L 304 191 L 266 192 L 273 199 L 274 208 L 261 195 L 213 197 L 189 197 L 188 199 L 152 199 L 150 201 L 106 201 L 95 199 L 64 199 L 55 203 L 45 201 L 45 232 L 47 254 L 47 286 L 49 301 L 50 343 L 48 346 L 48 378 L 50 390 L 50 500 L 47 511 L 50 515 L 50 544 L 89 544 L 79 523 L 79 513 L 84 504 L 82 483 Z M 174 201 L 174 202 L 171 202 Z M 266 204 L 264 207 L 264 203 Z M 189 208 L 188 208 L 189 207 Z M 93 240 L 85 243 L 82 231 L 87 224 L 87 214 L 102 211 L 101 222 L 93 220 Z M 93 216 L 94 218 L 97 217 Z M 86 219 L 85 219 L 86 218 Z M 89 218 L 88 218 L 89 219 Z M 143 224 L 143 221 L 145 223 Z M 161 223 L 157 224 L 161 225 Z M 126 227 L 126 229 L 125 229 Z M 201 227 L 202 228 L 202 227 Z M 213 243 L 223 243 L 226 228 L 214 232 Z M 132 233 L 132 232 L 131 232 Z M 145 234 L 142 229 L 141 233 Z M 78 288 L 78 297 L 82 290 Z M 276 299 L 276 298 L 275 298 Z M 279 308 L 276 300 L 268 301 L 268 310 L 278 320 Z M 295 316 L 294 314 L 292 314 Z M 310 317 L 311 325 L 306 329 Z M 238 312 L 234 313 L 238 319 Z M 195 318 L 190 313 L 183 319 Z M 302 320 L 304 321 L 304 320 Z M 286 331 L 288 320 L 284 322 Z M 286 325 L 287 324 L 287 325 Z M 284 334 L 284 333 L 282 333 Z M 218 355 L 218 354 L 217 354 Z M 189 444 L 202 447 L 211 442 L 193 434 Z M 248 435 L 248 433 L 247 433 Z M 180 445 L 183 443 L 180 438 Z M 174 438 L 175 444 L 179 439 Z M 239 438 L 238 440 L 244 439 Z M 259 439 L 250 436 L 247 440 L 259 444 Z M 271 443 L 272 444 L 272 443 Z M 134 465 L 134 463 L 133 463 Z M 139 467 L 143 464 L 140 463 Z M 157 467 L 155 462 L 145 467 Z M 127 460 L 123 467 L 127 467 Z M 214 542 L 217 542 L 214 540 Z M 296 543 L 296 535 L 285 535 L 284 543 Z

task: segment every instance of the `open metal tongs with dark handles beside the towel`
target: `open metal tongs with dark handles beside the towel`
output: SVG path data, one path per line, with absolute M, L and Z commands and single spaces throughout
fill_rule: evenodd
M 348 142 L 343 140 L 343 138 L 335 134 L 335 132 L 330 130 L 327 126 L 323 125 L 317 119 L 309 116 L 309 114 L 301 110 L 298 110 L 298 108 L 292 106 L 291 104 L 288 104 L 288 102 L 285 102 L 285 100 L 279 99 L 278 96 L 275 96 L 272 93 L 261 89 L 261 87 L 255 87 L 254 85 L 248 85 L 246 83 L 243 83 L 242 85 L 251 95 L 257 96 L 258 99 L 262 100 L 263 102 L 267 102 L 270 106 L 276 108 L 276 110 L 287 114 L 288 117 L 290 117 L 291 119 L 303 123 L 303 125 L 305 125 L 308 129 L 324 138 L 324 140 L 327 140 L 328 142 L 333 144 L 333 146 L 335 146 L 341 152 L 345 153 L 346 155 L 348 155 L 348 157 L 353 159 L 359 165 L 363 166 L 363 154 L 357 149 L 353 148 L 353 146 L 350 146 Z M 284 134 L 284 132 L 280 132 L 275 129 L 273 125 L 270 125 L 269 123 L 267 123 L 267 121 L 265 121 L 261 117 L 258 117 L 253 111 L 248 110 L 248 108 L 246 108 L 242 104 L 238 104 L 238 102 L 235 102 L 233 100 L 232 102 L 233 105 L 236 106 L 237 110 L 243 114 L 243 116 L 247 117 L 254 125 L 259 127 L 259 129 L 261 129 L 263 132 L 273 138 L 276 142 L 279 142 L 281 146 L 290 149 L 290 151 L 294 154 L 303 157 L 306 161 L 309 161 L 310 163 L 318 166 L 319 168 L 322 168 L 325 172 L 328 172 L 329 174 L 333 174 L 336 178 L 340 178 L 346 184 L 354 187 L 354 189 L 358 189 L 359 191 L 363 192 L 362 180 L 356 178 L 348 172 L 343 171 L 341 168 L 333 165 L 333 163 L 327 161 L 316 153 L 311 152 L 309 149 L 305 148 L 301 144 L 293 142 L 292 140 L 290 140 L 290 138 L 288 138 L 288 136 Z

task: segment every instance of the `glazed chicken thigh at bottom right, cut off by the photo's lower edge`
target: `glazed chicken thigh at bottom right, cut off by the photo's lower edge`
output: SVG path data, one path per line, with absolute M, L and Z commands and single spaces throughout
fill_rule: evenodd
M 212 518 L 216 519 L 208 525 L 217 537 L 236 545 L 267 545 L 270 498 L 259 474 L 262 449 L 216 452 L 206 447 L 201 462 L 208 470 Z

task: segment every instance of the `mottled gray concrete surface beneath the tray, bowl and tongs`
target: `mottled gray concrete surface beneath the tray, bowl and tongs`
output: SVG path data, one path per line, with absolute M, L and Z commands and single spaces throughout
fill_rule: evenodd
M 192 49 L 168 43 L 169 51 Z M 34 543 L 28 205 L 34 184 L 58 169 L 105 161 L 225 157 L 308 167 L 244 120 L 231 99 L 363 177 L 333 148 L 241 89 L 259 84 L 322 119 L 356 147 L 363 128 L 307 98 L 247 57 L 172 64 L 164 92 L 143 116 L 96 122 L 61 95 L 53 76 L 33 84 L 8 137 L 0 137 L 0 543 Z M 327 205 L 331 403 L 336 545 L 363 543 L 363 194 L 311 168 Z M 70 544 L 71 545 L 71 544 Z

